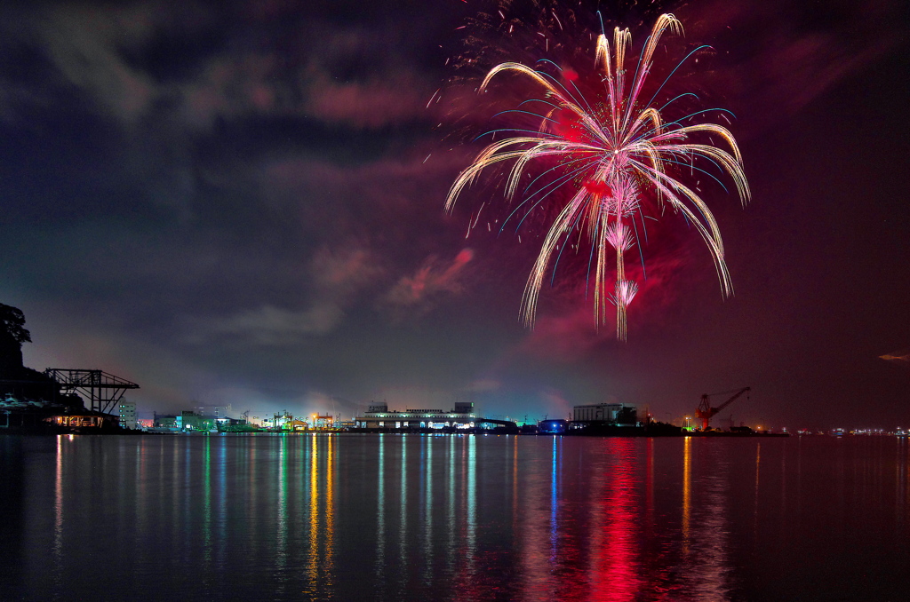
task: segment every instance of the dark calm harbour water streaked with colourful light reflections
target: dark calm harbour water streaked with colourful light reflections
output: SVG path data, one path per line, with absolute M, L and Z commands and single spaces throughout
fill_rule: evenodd
M 0 436 L 0 599 L 910 600 L 906 439 Z

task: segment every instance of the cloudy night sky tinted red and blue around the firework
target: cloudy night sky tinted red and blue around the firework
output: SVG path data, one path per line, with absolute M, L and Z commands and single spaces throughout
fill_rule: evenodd
M 751 386 L 737 423 L 910 426 L 910 368 L 880 358 L 910 347 L 906 3 L 500 4 L 0 7 L 0 302 L 25 312 L 25 365 L 136 381 L 140 412 L 669 420 Z M 521 93 L 479 97 L 486 71 L 546 40 L 582 72 L 598 9 L 635 58 L 663 11 L 685 27 L 668 58 L 713 46 L 678 85 L 736 115 L 753 191 L 705 194 L 735 296 L 664 216 L 625 343 L 595 330 L 583 274 L 522 326 L 539 228 L 465 236 L 508 207 L 495 174 L 443 207 Z

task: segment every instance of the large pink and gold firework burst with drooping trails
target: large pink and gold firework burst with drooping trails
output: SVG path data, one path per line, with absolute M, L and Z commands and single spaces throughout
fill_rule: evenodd
M 553 263 L 555 269 L 559 261 L 557 251 L 573 245 L 572 237 L 584 233 L 591 244 L 589 278 L 592 271 L 595 324 L 605 324 L 609 306 L 614 306 L 616 336 L 625 340 L 626 313 L 638 292 L 638 284 L 626 277 L 626 257 L 639 246 L 638 233 L 645 228 L 642 212 L 645 200 L 656 201 L 661 213 L 665 206 L 672 207 L 694 226 L 711 252 L 723 295 L 733 293 L 714 216 L 696 192 L 697 187 L 687 186 L 683 181 L 684 176 L 691 176 L 695 171 L 717 179 L 696 164 L 726 173 L 733 178 L 745 204 L 749 187 L 743 173 L 743 159 L 733 135 L 725 127 L 693 123 L 707 111 L 673 121 L 663 118 L 668 106 L 693 95 L 678 95 L 657 106 L 654 99 L 661 92 L 661 85 L 651 100 L 642 102 L 654 51 L 667 30 L 682 34 L 682 25 L 673 15 L 658 17 L 632 77 L 626 70 L 626 54 L 632 45 L 629 29 L 616 27 L 612 46 L 605 35 L 598 36 L 594 62 L 602 80 L 598 83 L 602 84 L 602 92 L 597 102 L 591 103 L 581 94 L 575 71 L 564 69 L 559 70 L 559 75 L 551 75 L 545 70 L 559 69 L 550 61 L 541 61 L 543 67 L 538 69 L 521 63 L 502 63 L 493 67 L 480 85 L 483 92 L 494 77 L 511 72 L 531 78 L 544 92 L 542 98 L 526 100 L 516 109 L 522 115 L 533 115 L 539 125 L 534 129 L 509 128 L 492 133 L 494 138 L 500 133 L 506 137 L 483 149 L 455 180 L 446 199 L 446 208 L 451 210 L 465 186 L 474 182 L 482 171 L 511 162 L 505 184 L 506 196 L 511 201 L 522 178 L 530 178 L 531 164 L 544 162 L 541 175 L 522 191 L 519 208 L 525 207 L 528 213 L 538 207 L 552 210 L 553 204 L 561 208 L 544 236 L 522 297 L 521 314 L 529 327 L 534 323 L 548 266 Z M 716 135 L 729 150 L 713 143 L 694 142 L 692 135 Z M 546 162 L 553 165 L 547 166 Z M 549 177 L 541 179 L 544 175 Z

